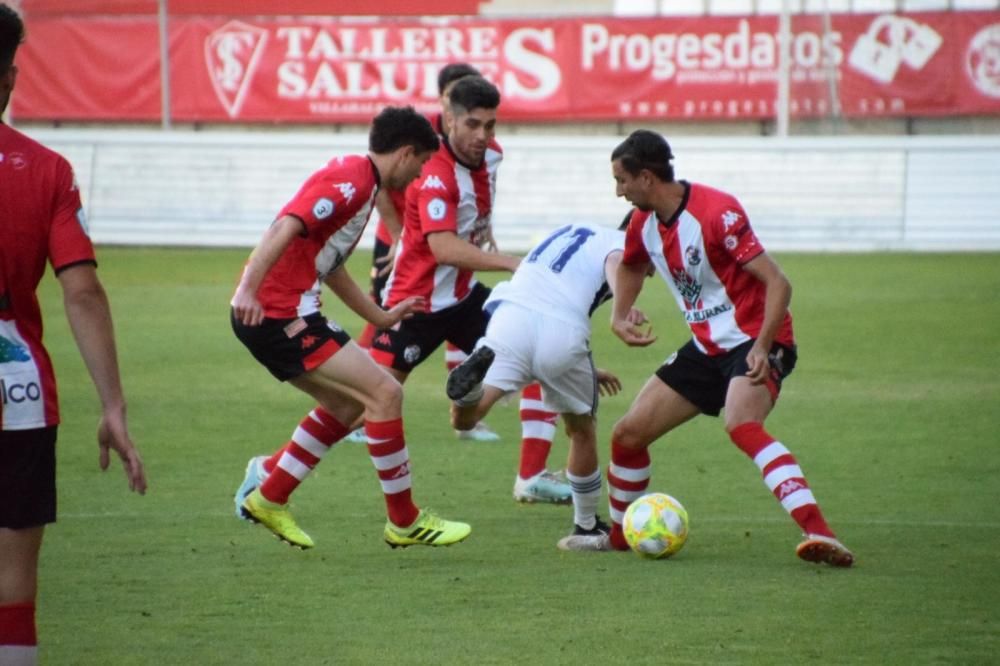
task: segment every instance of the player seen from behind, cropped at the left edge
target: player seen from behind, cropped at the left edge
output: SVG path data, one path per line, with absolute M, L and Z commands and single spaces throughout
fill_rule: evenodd
M 14 56 L 23 36 L 21 18 L 0 4 L 0 114 L 14 89 Z M 111 310 L 72 169 L 62 156 L 0 122 L 0 664 L 36 662 L 38 556 L 45 526 L 56 520 L 59 405 L 35 293 L 46 263 L 62 288 L 66 318 L 100 397 L 100 466 L 107 469 L 114 450 L 129 487 L 145 493 L 142 459 L 125 416 Z

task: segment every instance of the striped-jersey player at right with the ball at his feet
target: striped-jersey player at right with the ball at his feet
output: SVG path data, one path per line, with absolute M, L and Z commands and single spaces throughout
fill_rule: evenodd
M 698 414 L 725 409 L 730 439 L 805 533 L 796 553 L 851 566 L 791 452 L 764 430 L 782 380 L 795 366 L 791 284 L 764 251 L 735 197 L 676 181 L 666 140 L 637 130 L 611 154 L 616 193 L 636 207 L 618 269 L 612 329 L 626 344 L 655 341 L 628 318 L 649 268 L 667 283 L 693 338 L 651 378 L 615 424 L 608 486 L 608 544 L 625 549 L 626 507 L 649 484 L 649 445 Z

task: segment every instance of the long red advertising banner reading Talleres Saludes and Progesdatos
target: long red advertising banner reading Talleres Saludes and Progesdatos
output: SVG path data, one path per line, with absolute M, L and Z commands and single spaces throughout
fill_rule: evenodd
M 774 16 L 183 16 L 169 28 L 180 122 L 367 122 L 386 104 L 433 110 L 437 72 L 455 61 L 498 85 L 505 120 L 776 115 Z M 38 19 L 29 31 L 16 117 L 159 120 L 154 17 Z M 826 30 L 821 17 L 796 16 L 791 32 L 793 118 L 1000 113 L 1000 12 L 836 15 Z

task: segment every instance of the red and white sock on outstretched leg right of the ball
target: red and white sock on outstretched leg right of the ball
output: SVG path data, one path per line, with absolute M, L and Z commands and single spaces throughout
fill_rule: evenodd
M 729 438 L 760 468 L 764 484 L 803 532 L 833 538 L 806 483 L 805 474 L 784 444 L 767 434 L 762 423 L 755 421 L 736 426 L 729 432 Z

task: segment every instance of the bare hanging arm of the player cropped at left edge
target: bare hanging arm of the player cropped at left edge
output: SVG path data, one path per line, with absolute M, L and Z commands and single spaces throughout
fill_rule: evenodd
M 97 430 L 101 469 L 108 468 L 114 450 L 121 458 L 129 488 L 145 494 L 146 472 L 128 433 L 125 395 L 118 372 L 118 352 L 107 294 L 91 264 L 71 266 L 60 271 L 58 277 L 66 318 L 101 400 L 101 422 Z

